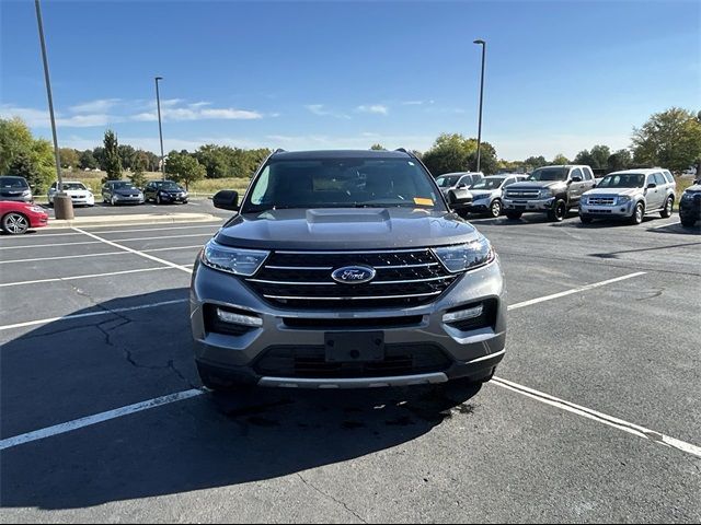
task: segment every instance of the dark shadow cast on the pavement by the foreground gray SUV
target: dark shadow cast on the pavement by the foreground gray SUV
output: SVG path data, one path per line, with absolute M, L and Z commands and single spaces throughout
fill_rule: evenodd
M 186 290 L 90 311 L 173 296 L 184 299 Z M 3 345 L 1 374 L 3 439 L 198 386 L 187 304 L 41 327 Z M 0 503 L 78 509 L 291 474 L 307 482 L 303 470 L 387 451 L 470 417 L 479 390 L 456 383 L 208 393 L 3 451 Z

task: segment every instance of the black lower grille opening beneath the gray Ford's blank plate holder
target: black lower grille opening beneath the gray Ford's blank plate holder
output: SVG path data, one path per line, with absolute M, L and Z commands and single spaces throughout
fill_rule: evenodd
M 386 377 L 443 372 L 451 360 L 435 345 L 387 345 L 374 362 L 326 362 L 322 346 L 272 347 L 253 366 L 264 376 L 291 378 Z

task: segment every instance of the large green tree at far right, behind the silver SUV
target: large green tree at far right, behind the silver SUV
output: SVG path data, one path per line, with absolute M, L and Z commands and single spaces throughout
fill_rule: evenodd
M 701 159 L 701 116 L 679 107 L 656 113 L 633 129 L 636 164 L 682 172 Z

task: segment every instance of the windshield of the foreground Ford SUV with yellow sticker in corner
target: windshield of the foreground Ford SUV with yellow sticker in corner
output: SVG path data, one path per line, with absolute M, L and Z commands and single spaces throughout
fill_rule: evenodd
M 273 160 L 242 213 L 284 208 L 445 209 L 429 175 L 405 159 Z

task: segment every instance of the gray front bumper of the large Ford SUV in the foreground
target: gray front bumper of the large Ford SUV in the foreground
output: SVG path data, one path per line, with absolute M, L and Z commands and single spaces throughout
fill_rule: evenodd
M 364 388 L 443 383 L 457 377 L 483 378 L 504 358 L 506 341 L 506 291 L 498 259 L 478 270 L 463 275 L 437 301 L 411 308 L 382 310 L 283 310 L 262 300 L 239 278 L 197 264 L 191 287 L 191 322 L 195 359 L 200 371 L 222 382 L 307 388 Z M 494 304 L 492 326 L 460 330 L 443 322 L 447 311 L 479 302 Z M 220 305 L 244 311 L 260 317 L 262 326 L 241 335 L 208 331 L 205 305 Z M 407 324 L 399 323 L 411 317 Z M 392 318 L 382 327 L 382 318 Z M 291 323 L 294 319 L 295 323 Z M 299 320 L 303 319 L 303 323 Z M 324 320 L 353 319 L 358 328 L 323 328 Z M 371 328 L 361 327 L 363 319 L 372 322 Z M 310 327 L 319 322 L 319 326 Z M 378 327 L 379 325 L 379 327 Z M 300 327 L 300 326 L 303 326 Z M 381 331 L 388 354 L 390 351 L 421 348 L 439 352 L 444 364 L 420 373 L 329 377 L 299 376 L 261 372 L 260 363 L 274 351 L 307 349 L 322 352 L 329 332 Z M 280 350 L 281 349 L 281 350 Z M 390 350 L 392 349 L 392 350 Z M 354 363 L 355 364 L 355 363 Z

